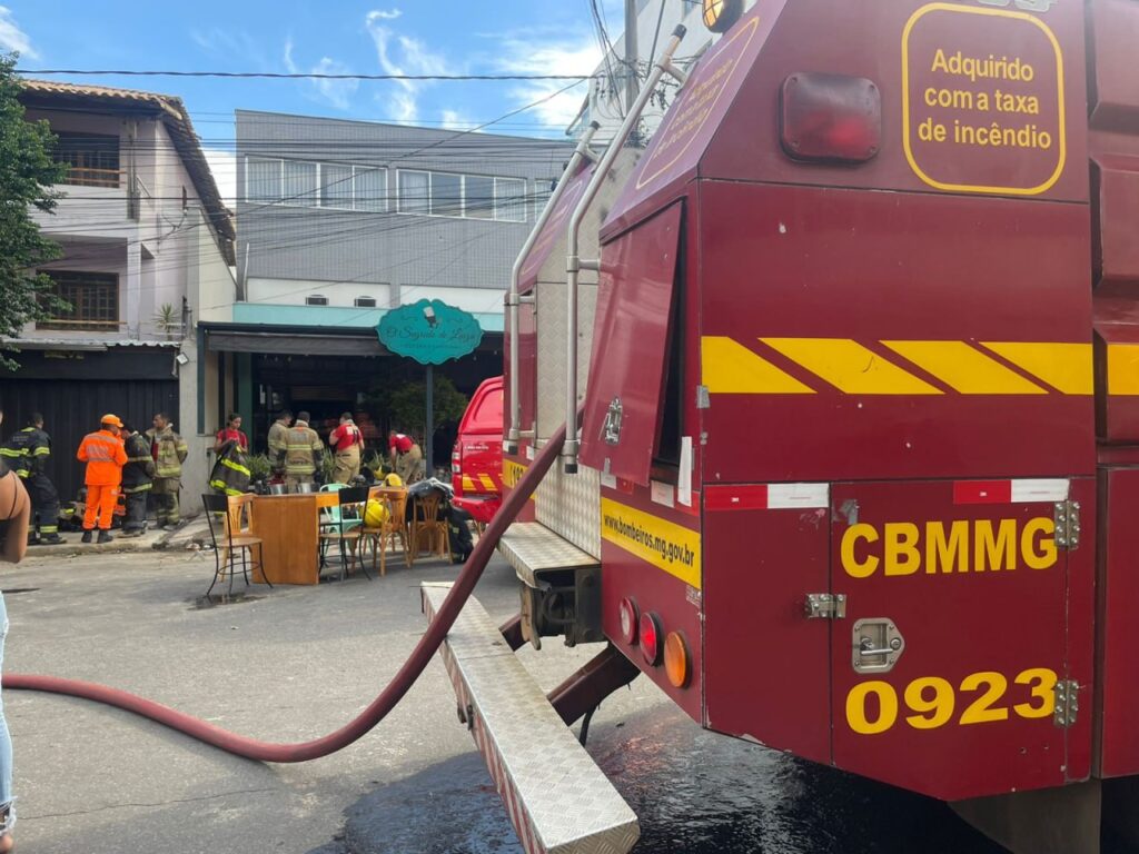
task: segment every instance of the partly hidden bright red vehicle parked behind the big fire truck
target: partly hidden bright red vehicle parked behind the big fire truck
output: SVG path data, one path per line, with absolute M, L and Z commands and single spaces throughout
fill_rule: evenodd
M 502 504 L 502 377 L 483 380 L 451 452 L 452 503 L 486 524 Z

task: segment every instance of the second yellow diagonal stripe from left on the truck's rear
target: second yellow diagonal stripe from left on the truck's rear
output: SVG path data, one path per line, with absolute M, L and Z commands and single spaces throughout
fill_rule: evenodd
M 760 338 L 846 394 L 941 394 L 850 338 Z

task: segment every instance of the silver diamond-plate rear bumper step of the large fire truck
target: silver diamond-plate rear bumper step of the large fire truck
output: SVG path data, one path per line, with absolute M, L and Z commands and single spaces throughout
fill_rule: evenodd
M 421 585 L 434 619 L 450 584 Z M 637 816 L 472 597 L 440 648 L 470 730 L 527 854 L 622 854 Z

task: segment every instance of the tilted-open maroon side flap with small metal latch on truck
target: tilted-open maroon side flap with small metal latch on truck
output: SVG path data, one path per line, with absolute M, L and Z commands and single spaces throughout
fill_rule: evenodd
M 682 205 L 601 254 L 581 460 L 641 486 L 661 429 Z

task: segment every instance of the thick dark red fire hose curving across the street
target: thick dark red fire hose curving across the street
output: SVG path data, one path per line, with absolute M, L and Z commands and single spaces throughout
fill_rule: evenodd
M 416 680 L 419 679 L 427 663 L 435 655 L 446 633 L 451 630 L 451 625 L 454 623 L 456 617 L 459 616 L 459 611 L 462 610 L 462 606 L 470 598 L 475 584 L 482 576 L 483 569 L 486 568 L 492 550 L 498 544 L 499 537 L 502 536 L 502 533 L 518 515 L 526 501 L 530 500 L 531 493 L 538 487 L 539 482 L 541 482 L 554 463 L 555 458 L 560 453 L 564 438 L 565 427 L 554 436 L 550 436 L 526 474 L 510 491 L 510 495 L 494 515 L 486 531 L 478 539 L 477 545 L 475 545 L 474 551 L 459 573 L 451 588 L 451 592 L 435 615 L 435 619 L 427 626 L 427 631 L 419 639 L 411 655 L 408 656 L 408 659 L 400 667 L 395 676 L 392 678 L 388 685 L 355 718 L 323 738 L 295 745 L 259 741 L 238 736 L 202 718 L 194 717 L 185 712 L 179 712 L 170 706 L 164 706 L 161 703 L 148 700 L 145 697 L 139 697 L 128 691 L 108 688 L 95 682 L 83 682 L 60 676 L 6 673 L 3 675 L 3 688 L 63 693 L 71 697 L 95 700 L 96 703 L 104 703 L 108 706 L 116 706 L 144 717 L 149 717 L 207 745 L 220 747 L 227 753 L 260 762 L 308 762 L 309 759 L 318 759 L 321 756 L 336 753 L 361 738 L 383 721 L 387 716 L 387 713 L 403 699 L 403 696 L 415 684 Z

